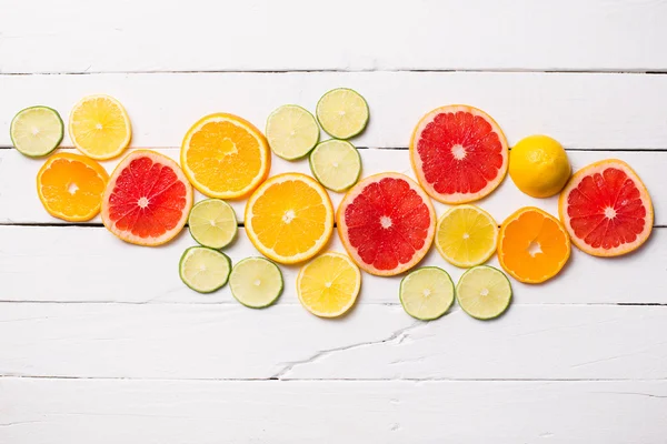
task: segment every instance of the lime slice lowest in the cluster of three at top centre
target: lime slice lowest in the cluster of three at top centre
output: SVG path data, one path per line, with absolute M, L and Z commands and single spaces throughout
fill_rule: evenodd
M 361 157 L 350 142 L 331 139 L 319 143 L 310 153 L 310 171 L 323 186 L 344 191 L 361 174 Z

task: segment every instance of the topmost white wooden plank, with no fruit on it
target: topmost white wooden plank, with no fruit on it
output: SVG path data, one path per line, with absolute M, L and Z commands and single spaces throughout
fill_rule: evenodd
M 667 68 L 663 1 L 2 4 L 1 72 Z

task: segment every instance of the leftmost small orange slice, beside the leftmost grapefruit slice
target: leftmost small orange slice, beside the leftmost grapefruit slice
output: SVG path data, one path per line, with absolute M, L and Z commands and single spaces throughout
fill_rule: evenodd
M 100 212 L 107 171 L 84 155 L 56 153 L 37 173 L 37 193 L 44 209 L 54 218 L 83 222 Z

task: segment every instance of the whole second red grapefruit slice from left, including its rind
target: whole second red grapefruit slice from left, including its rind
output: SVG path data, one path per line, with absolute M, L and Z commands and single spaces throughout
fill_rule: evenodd
M 428 252 L 436 212 L 407 175 L 382 173 L 357 183 L 342 198 L 338 234 L 352 260 L 370 274 L 391 276 L 415 266 Z

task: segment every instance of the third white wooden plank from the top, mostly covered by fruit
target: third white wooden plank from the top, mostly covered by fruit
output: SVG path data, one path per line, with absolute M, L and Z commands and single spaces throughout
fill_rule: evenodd
M 74 152 L 73 150 L 70 150 Z M 178 161 L 179 150 L 160 149 L 158 150 Z M 359 150 L 364 162 L 364 176 L 371 174 L 396 171 L 410 175 L 415 179 L 410 167 L 409 153 L 407 150 Z M 598 151 L 570 151 L 569 159 L 575 170 L 585 167 L 591 162 L 616 158 L 627 161 L 646 183 L 651 193 L 655 205 L 656 225 L 667 225 L 667 152 L 598 152 Z M 311 174 L 308 161 L 288 162 L 273 157 L 271 174 L 279 174 L 289 171 L 298 171 Z M 37 192 L 34 191 L 34 178 L 42 165 L 43 160 L 34 160 L 21 155 L 16 150 L 0 150 L 0 223 L 64 223 L 63 221 L 50 216 L 42 208 Z M 118 160 L 104 162 L 108 171 L 112 171 Z M 338 206 L 342 199 L 342 193 L 329 192 L 335 206 Z M 197 193 L 197 200 L 203 196 Z M 235 208 L 240 221 L 243 219 L 243 209 L 246 201 L 230 202 Z M 489 198 L 478 202 L 480 206 L 489 211 L 498 223 L 515 212 L 520 206 L 539 206 L 544 210 L 558 214 L 558 199 L 534 199 L 521 193 L 507 178 L 502 185 Z M 436 210 L 441 214 L 446 205 L 436 202 Z M 96 218 L 92 223 L 101 223 L 100 218 Z

